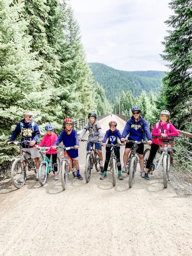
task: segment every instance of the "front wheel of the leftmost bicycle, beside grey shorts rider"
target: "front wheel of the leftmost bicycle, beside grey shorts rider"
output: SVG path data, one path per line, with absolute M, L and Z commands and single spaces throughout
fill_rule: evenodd
M 23 172 L 23 165 L 24 165 L 24 170 L 25 170 L 26 169 L 26 165 L 23 162 L 21 157 L 15 159 L 14 162 L 12 163 L 12 167 L 11 167 L 11 180 L 12 180 L 12 184 L 16 188 L 21 188 L 25 184 L 26 171 L 24 171 L 25 172 L 24 179 L 23 180 L 20 179 L 21 178 L 21 174 Z

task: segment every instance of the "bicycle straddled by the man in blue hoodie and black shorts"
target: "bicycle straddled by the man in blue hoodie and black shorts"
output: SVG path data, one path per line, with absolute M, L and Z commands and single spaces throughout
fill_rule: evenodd
M 138 148 L 137 144 L 144 143 L 144 141 L 143 140 L 142 141 L 125 140 L 125 141 L 133 143 L 133 146 L 132 146 L 132 149 L 130 151 L 129 158 L 127 161 L 127 168 L 126 168 L 126 172 L 129 175 L 129 187 L 131 188 L 133 185 L 135 172 L 137 170 L 137 163 L 139 162 L 138 161 L 139 160 L 138 153 L 137 153 L 137 148 Z

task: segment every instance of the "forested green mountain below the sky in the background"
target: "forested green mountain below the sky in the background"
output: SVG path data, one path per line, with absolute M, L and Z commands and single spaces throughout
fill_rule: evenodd
M 142 91 L 158 92 L 161 80 L 165 76 L 163 71 L 123 71 L 108 67 L 102 63 L 89 63 L 95 81 L 103 86 L 109 102 L 114 103 L 115 98 L 122 91 L 132 91 L 137 97 Z

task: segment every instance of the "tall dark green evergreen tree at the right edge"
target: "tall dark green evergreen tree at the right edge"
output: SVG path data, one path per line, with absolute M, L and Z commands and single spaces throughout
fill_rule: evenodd
M 192 0 L 172 0 L 170 8 L 174 15 L 165 23 L 172 29 L 164 38 L 162 55 L 170 71 L 163 79 L 158 108 L 171 112 L 178 129 L 192 132 Z

